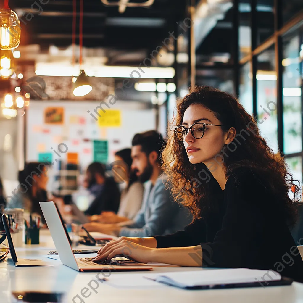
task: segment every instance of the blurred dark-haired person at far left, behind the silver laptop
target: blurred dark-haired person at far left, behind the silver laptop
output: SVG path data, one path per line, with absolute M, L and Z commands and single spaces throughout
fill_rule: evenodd
M 45 224 L 39 202 L 50 200 L 46 191 L 47 171 L 48 167 L 43 163 L 25 164 L 24 170 L 18 173 L 18 191 L 15 189 L 12 196 L 7 197 L 6 207 L 23 208 L 27 213 L 40 217 L 42 224 Z

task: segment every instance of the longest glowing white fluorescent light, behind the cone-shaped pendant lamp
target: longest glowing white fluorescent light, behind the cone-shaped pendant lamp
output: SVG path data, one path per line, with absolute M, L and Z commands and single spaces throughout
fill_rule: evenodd
M 175 69 L 172 67 L 135 67 L 135 66 L 83 66 L 85 73 L 91 77 L 108 78 L 151 78 L 171 79 L 175 76 Z M 79 66 L 62 66 L 52 63 L 36 63 L 35 73 L 38 76 L 78 76 Z

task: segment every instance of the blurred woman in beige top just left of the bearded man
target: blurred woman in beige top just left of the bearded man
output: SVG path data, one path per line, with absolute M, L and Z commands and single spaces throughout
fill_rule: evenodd
M 131 171 L 131 149 L 125 148 L 115 153 L 112 171 L 115 181 L 122 189 L 118 214 L 113 211 L 103 211 L 101 215 L 92 216 L 92 221 L 101 223 L 118 223 L 132 220 L 142 205 L 144 187 L 138 181 L 134 171 Z

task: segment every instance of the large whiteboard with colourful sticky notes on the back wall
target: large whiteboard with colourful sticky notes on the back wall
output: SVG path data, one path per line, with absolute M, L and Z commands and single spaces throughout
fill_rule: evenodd
M 78 153 L 79 164 L 85 169 L 93 161 L 92 140 L 108 140 L 110 163 L 115 151 L 131 147 L 135 133 L 155 129 L 155 111 L 144 103 L 118 100 L 112 105 L 111 109 L 121 111 L 120 127 L 98 126 L 98 122 L 88 113 L 98 105 L 99 102 L 87 101 L 31 101 L 26 112 L 26 161 L 38 161 L 39 153 L 52 153 L 52 161 L 58 159 L 66 162 L 67 153 L 58 151 L 58 145 L 64 143 L 68 152 Z M 44 123 L 44 110 L 47 107 L 64 108 L 63 124 Z M 81 118 L 81 124 L 75 123 L 75 117 Z M 62 145 L 59 148 L 64 151 Z M 53 168 L 58 169 L 58 162 Z

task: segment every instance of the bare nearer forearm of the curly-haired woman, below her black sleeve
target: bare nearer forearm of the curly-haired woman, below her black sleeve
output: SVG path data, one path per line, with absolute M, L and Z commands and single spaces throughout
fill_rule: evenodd
M 202 248 L 191 247 L 157 248 L 150 252 L 148 262 L 167 263 L 180 266 L 202 266 Z

